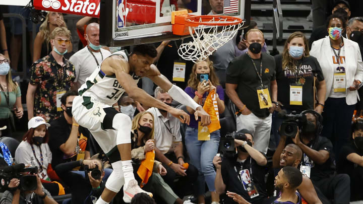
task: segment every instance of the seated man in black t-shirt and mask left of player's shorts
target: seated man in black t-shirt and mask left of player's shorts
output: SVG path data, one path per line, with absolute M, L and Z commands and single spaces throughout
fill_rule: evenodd
M 87 145 L 90 132 L 72 117 L 72 103 L 77 95 L 76 91 L 68 91 L 61 97 L 63 115 L 53 120 L 48 129 L 53 169 L 60 163 L 90 158 Z

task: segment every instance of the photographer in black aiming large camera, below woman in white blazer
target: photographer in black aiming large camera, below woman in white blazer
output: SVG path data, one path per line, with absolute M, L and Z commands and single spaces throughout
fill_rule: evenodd
M 286 121 L 285 125 L 282 123 L 279 146 L 286 143 L 297 145 L 302 151 L 300 171 L 310 177 L 317 191 L 321 191 L 328 199 L 334 199 L 334 203 L 349 203 L 349 176 L 335 174 L 334 155 L 331 152 L 333 145 L 329 139 L 320 137 L 322 116 L 314 110 L 305 110 L 294 117 L 297 118 L 295 125 L 291 120 L 287 121 L 287 125 Z M 288 138 L 285 140 L 284 136 Z

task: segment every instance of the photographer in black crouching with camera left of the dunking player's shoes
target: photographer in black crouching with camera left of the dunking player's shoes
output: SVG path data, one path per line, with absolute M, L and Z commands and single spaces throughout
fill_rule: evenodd
M 77 167 L 83 167 L 85 176 L 73 172 Z M 66 162 L 55 166 L 57 175 L 70 187 L 72 204 L 93 204 L 104 189 L 103 163 L 98 159 Z M 96 197 L 96 198 L 95 198 Z

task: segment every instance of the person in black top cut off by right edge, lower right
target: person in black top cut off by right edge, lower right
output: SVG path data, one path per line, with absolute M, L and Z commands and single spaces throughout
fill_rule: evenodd
M 357 120 L 352 130 L 352 140 L 340 151 L 337 171 L 349 175 L 350 200 L 355 201 L 363 199 L 363 121 Z

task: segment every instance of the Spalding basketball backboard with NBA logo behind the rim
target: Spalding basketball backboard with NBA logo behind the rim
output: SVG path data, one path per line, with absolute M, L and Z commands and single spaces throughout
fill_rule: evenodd
M 250 24 L 251 0 L 101 0 L 100 43 L 127 46 L 189 37 L 172 34 L 171 12 L 208 15 L 202 11 L 208 1 L 217 5 L 219 15 L 243 19 L 243 28 Z

